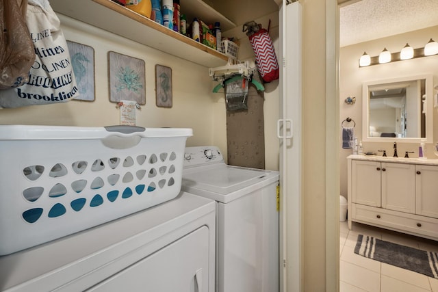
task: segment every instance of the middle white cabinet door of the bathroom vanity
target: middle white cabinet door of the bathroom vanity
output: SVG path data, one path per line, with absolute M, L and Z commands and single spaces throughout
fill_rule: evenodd
M 382 162 L 382 208 L 415 213 L 415 165 Z

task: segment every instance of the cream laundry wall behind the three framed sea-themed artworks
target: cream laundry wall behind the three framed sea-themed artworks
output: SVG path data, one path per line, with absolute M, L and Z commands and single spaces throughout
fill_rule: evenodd
M 194 136 L 188 146 L 214 144 L 212 83 L 208 69 L 187 62 L 137 42 L 120 38 L 107 31 L 60 16 L 67 40 L 94 48 L 96 101 L 70 101 L 58 105 L 40 105 L 18 109 L 1 109 L 1 124 L 53 124 L 73 126 L 106 126 L 120 124 L 120 110 L 109 102 L 107 52 L 116 51 L 144 59 L 146 64 L 146 105 L 137 111 L 141 127 L 187 127 Z M 172 68 L 173 107 L 155 106 L 155 64 Z M 222 127 L 219 135 L 223 135 Z

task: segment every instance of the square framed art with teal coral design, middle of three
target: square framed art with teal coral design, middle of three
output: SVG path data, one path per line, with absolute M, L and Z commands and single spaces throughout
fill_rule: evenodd
M 113 51 L 108 52 L 110 101 L 135 101 L 146 104 L 144 60 Z

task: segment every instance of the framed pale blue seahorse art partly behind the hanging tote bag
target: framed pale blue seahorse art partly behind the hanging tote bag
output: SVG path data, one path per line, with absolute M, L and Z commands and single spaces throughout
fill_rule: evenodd
M 94 101 L 94 49 L 85 44 L 67 40 L 68 52 L 75 73 L 79 96 L 73 101 Z

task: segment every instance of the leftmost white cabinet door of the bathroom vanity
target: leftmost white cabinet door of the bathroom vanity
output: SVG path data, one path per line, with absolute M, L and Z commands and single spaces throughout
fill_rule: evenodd
M 381 163 L 353 160 L 351 166 L 352 202 L 381 207 Z

